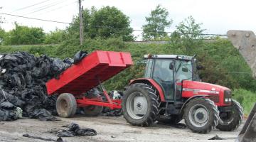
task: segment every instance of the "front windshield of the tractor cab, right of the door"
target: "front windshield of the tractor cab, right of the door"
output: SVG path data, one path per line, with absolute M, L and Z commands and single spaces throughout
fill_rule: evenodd
M 192 63 L 186 60 L 176 60 L 176 82 L 192 80 Z

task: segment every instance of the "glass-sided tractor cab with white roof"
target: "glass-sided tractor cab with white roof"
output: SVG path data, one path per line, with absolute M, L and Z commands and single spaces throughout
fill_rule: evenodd
M 181 100 L 183 80 L 199 80 L 194 56 L 145 55 L 144 58 L 147 59 L 144 78 L 151 78 L 161 86 L 167 102 Z

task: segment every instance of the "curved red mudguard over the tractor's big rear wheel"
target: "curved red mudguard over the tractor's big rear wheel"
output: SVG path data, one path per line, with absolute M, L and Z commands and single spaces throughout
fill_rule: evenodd
M 136 80 L 131 80 L 129 82 L 129 84 L 134 84 L 134 83 L 146 83 L 146 84 L 151 84 L 152 86 L 154 86 L 157 90 L 157 92 L 159 93 L 161 102 L 166 102 L 166 100 L 164 99 L 164 91 L 163 89 L 161 89 L 160 85 L 157 84 L 153 79 L 149 79 L 149 78 L 138 78 Z

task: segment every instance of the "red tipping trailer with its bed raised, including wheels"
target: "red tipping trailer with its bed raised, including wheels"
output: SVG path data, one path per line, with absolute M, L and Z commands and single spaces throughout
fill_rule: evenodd
M 117 75 L 133 65 L 131 54 L 96 50 L 83 58 L 77 65 L 65 70 L 59 79 L 51 79 L 46 83 L 48 95 L 58 95 L 56 109 L 59 116 L 71 117 L 77 107 L 85 108 L 86 114 L 100 114 L 103 107 L 120 109 L 121 100 L 111 99 L 101 82 Z M 85 97 L 85 92 L 100 85 L 106 102 L 102 97 Z

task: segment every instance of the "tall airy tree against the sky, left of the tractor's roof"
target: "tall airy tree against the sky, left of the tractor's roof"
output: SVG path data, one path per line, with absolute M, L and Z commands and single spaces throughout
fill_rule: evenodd
M 171 26 L 173 22 L 168 20 L 169 12 L 160 5 L 151 11 L 150 16 L 146 17 L 146 25 L 142 26 L 142 37 L 144 40 L 157 40 L 166 37 L 165 28 Z

